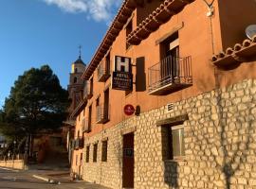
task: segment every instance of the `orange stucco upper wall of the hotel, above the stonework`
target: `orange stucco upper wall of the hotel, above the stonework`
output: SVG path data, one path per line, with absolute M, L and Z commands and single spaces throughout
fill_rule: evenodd
M 250 3 L 253 0 L 248 0 Z M 208 9 L 203 1 L 194 1 L 178 14 L 174 15 L 166 24 L 160 26 L 155 32 L 138 45 L 131 46 L 126 50 L 126 32 L 123 28 L 116 41 L 113 43 L 110 50 L 111 72 L 113 71 L 115 55 L 132 58 L 133 65 L 137 65 L 137 59 L 144 60 L 145 63 L 145 90 L 136 92 L 136 85 L 132 94 L 125 96 L 125 92 L 111 90 L 110 88 L 110 121 L 105 124 L 96 124 L 96 99 L 100 96 L 100 104 L 103 103 L 103 91 L 110 86 L 111 78 L 106 82 L 98 82 L 97 70 L 93 73 L 94 77 L 94 94 L 88 100 L 87 106 L 77 118 L 76 133 L 82 127 L 82 119 L 88 116 L 88 107 L 92 105 L 92 130 L 89 133 L 84 133 L 85 136 L 91 136 L 101 131 L 117 125 L 119 122 L 129 118 L 123 113 L 123 107 L 126 104 L 132 104 L 134 107 L 140 106 L 141 112 L 147 112 L 158 107 L 162 107 L 170 102 L 180 101 L 197 94 L 203 94 L 216 87 L 220 82 L 221 86 L 226 86 L 235 83 L 243 78 L 256 77 L 255 63 L 247 62 L 241 64 L 235 69 L 226 71 L 219 70 L 211 64 L 211 56 L 213 53 L 220 52 L 237 42 L 245 39 L 242 28 L 245 28 L 246 23 L 251 22 L 251 18 L 255 18 L 256 11 L 253 13 L 247 9 L 255 10 L 255 2 L 253 5 L 241 5 L 239 0 L 219 0 L 213 4 L 214 15 L 211 18 L 207 17 Z M 242 7 L 241 7 L 242 6 Z M 143 9 L 140 9 L 143 11 Z M 237 15 L 237 12 L 240 15 Z M 143 15 L 141 13 L 140 15 Z M 234 15 L 234 16 L 233 16 Z M 243 17 L 241 17 L 243 15 Z M 221 19 L 220 19 L 221 17 Z M 136 21 L 137 12 L 134 12 Z M 212 24 L 212 28 L 210 26 Z M 165 36 L 174 27 L 184 25 L 179 29 L 179 48 L 180 57 L 192 57 L 192 86 L 186 89 L 167 94 L 167 95 L 151 95 L 148 94 L 148 68 L 160 60 L 159 44 L 155 42 Z M 235 27 L 231 27 L 235 25 Z M 135 25 L 134 25 L 135 26 Z M 211 43 L 212 42 L 212 43 Z M 212 48 L 213 44 L 213 48 Z M 133 66 L 134 82 L 136 82 L 137 67 Z M 217 75 L 216 75 L 217 74 Z M 217 76 L 217 77 L 216 77 Z M 141 76 L 137 76 L 139 78 Z M 80 150 L 74 152 L 74 156 L 80 154 Z M 91 154 L 90 154 L 91 155 Z M 75 161 L 73 161 L 74 164 Z

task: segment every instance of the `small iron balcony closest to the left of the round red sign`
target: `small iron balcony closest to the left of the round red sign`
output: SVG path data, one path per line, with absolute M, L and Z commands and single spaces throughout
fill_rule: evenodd
M 104 106 L 103 104 L 96 107 L 96 123 L 104 124 L 109 121 L 110 106 Z

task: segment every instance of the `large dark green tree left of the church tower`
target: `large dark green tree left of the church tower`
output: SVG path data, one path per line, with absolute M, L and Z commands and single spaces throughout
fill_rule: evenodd
M 0 129 L 12 140 L 58 129 L 68 105 L 68 93 L 50 67 L 31 68 L 14 82 L 0 112 Z

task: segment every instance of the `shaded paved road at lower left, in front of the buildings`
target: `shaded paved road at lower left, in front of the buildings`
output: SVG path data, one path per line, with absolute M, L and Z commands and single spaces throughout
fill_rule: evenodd
M 62 181 L 61 184 L 52 184 L 33 178 L 32 175 L 35 173 L 37 171 L 13 172 L 0 168 L 0 189 L 106 189 L 88 182 L 69 181 L 64 177 L 56 178 Z

